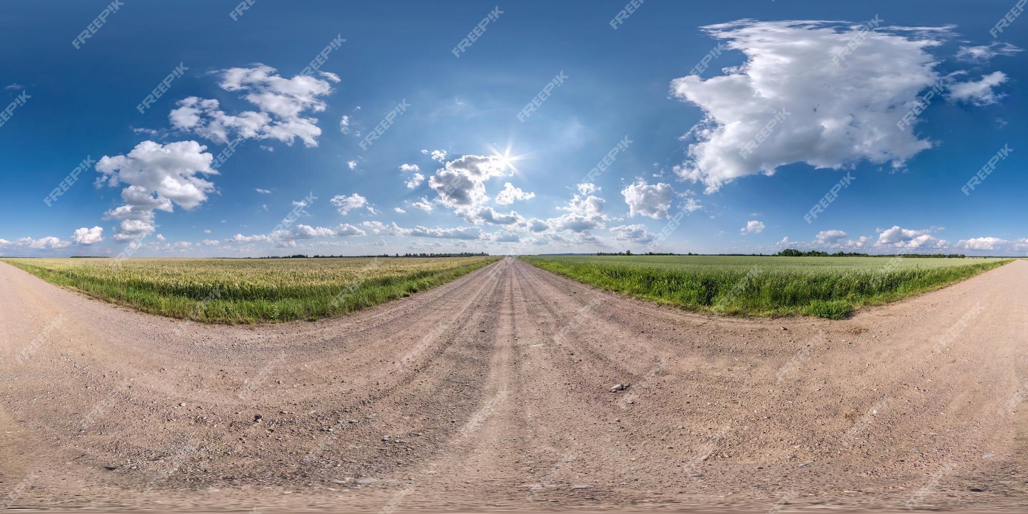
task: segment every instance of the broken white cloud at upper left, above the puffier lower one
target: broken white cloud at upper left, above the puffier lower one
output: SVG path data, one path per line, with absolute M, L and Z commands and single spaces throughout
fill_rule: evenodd
M 284 78 L 274 68 L 262 64 L 229 68 L 220 72 L 221 88 L 240 93 L 258 111 L 227 114 L 217 100 L 188 97 L 178 102 L 169 119 L 180 131 L 220 143 L 240 137 L 277 139 L 291 145 L 300 138 L 304 146 L 318 146 L 322 133 L 318 119 L 305 113 L 324 111 L 324 97 L 332 93 L 330 81 L 338 81 L 334 75 L 321 75 L 324 78 L 314 75 Z

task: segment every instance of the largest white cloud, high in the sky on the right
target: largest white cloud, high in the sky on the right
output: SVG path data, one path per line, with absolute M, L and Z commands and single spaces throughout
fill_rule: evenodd
M 712 192 L 791 162 L 838 169 L 867 159 L 903 167 L 929 148 L 930 141 L 896 122 L 919 93 L 943 78 L 935 70 L 941 60 L 927 49 L 949 38 L 951 28 L 860 27 L 751 20 L 703 27 L 746 60 L 721 76 L 672 80 L 671 94 L 704 112 L 687 134 L 695 142 L 675 172 Z M 858 34 L 862 42 L 840 53 Z M 839 56 L 844 59 L 834 62 Z M 743 148 L 750 151 L 740 153 Z

